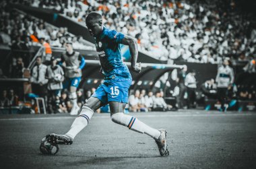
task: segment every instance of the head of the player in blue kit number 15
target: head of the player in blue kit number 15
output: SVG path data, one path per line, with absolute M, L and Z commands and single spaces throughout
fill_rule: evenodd
M 91 36 L 98 36 L 102 32 L 102 15 L 92 11 L 86 17 L 86 26 Z

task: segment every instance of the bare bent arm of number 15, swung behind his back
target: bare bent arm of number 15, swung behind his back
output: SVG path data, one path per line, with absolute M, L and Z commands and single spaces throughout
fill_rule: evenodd
M 131 69 L 135 71 L 136 73 L 140 73 L 141 71 L 141 63 L 137 63 L 137 56 L 138 56 L 138 47 L 137 42 L 134 38 L 131 36 L 125 35 L 125 37 L 122 40 L 122 44 L 128 45 L 129 50 L 131 53 Z

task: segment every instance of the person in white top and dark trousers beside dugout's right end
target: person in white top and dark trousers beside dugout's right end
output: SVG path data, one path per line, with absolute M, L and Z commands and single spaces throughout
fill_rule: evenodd
M 196 106 L 195 102 L 195 90 L 197 89 L 197 81 L 195 79 L 195 70 L 188 73 L 185 77 L 185 86 L 187 86 L 187 108 L 192 105 L 193 108 Z

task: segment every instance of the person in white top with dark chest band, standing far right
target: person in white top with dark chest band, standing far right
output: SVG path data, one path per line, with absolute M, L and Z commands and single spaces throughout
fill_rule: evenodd
M 218 68 L 216 83 L 221 110 L 225 111 L 226 107 L 224 107 L 224 104 L 228 94 L 228 88 L 232 88 L 232 83 L 234 83 L 234 71 L 232 67 L 229 66 L 228 59 L 224 59 L 223 65 Z

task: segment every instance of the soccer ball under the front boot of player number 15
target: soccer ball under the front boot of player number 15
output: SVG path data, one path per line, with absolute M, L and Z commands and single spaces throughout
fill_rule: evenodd
M 59 146 L 57 144 L 53 145 L 49 143 L 44 137 L 40 143 L 39 149 L 42 154 L 54 155 L 59 151 Z

